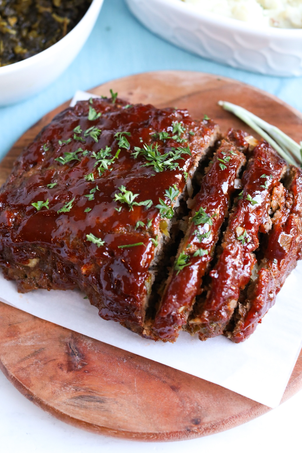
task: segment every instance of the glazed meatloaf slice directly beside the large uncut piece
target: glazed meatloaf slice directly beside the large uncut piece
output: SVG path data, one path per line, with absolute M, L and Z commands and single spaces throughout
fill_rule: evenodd
M 235 179 L 245 161 L 244 154 L 226 137 L 202 179 L 200 191 L 194 198 L 189 227 L 179 246 L 153 323 L 153 334 L 163 341 L 175 341 L 187 323 L 195 297 L 201 292 L 202 278 L 212 260 L 230 196 L 235 191 Z

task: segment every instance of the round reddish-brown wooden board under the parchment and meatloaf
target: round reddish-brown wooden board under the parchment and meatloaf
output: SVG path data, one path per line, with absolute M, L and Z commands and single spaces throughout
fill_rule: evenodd
M 111 81 L 129 103 L 187 108 L 221 125 L 244 128 L 217 106 L 220 99 L 246 107 L 301 140 L 302 115 L 274 96 L 235 80 L 199 72 L 161 71 Z M 0 164 L 0 183 L 13 162 L 59 111 L 44 116 Z M 113 326 L 114 328 L 114 326 Z M 125 439 L 172 441 L 214 434 L 243 424 L 270 408 L 211 382 L 43 321 L 0 303 L 0 368 L 36 405 L 79 428 Z M 302 387 L 302 353 L 283 395 Z

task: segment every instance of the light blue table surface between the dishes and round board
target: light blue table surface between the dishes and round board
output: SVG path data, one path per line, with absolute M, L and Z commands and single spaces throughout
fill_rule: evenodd
M 160 69 L 232 77 L 273 93 L 302 111 L 302 77 L 263 76 L 192 55 L 145 29 L 124 0 L 105 0 L 88 41 L 62 76 L 27 101 L 0 108 L 0 158 L 25 130 L 71 98 L 77 89 L 88 90 L 111 79 Z

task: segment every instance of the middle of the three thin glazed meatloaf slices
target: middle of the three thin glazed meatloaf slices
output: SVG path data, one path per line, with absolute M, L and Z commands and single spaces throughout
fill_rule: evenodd
M 273 188 L 286 165 L 266 142 L 253 151 L 242 177 L 243 191 L 235 203 L 222 241 L 222 253 L 210 272 L 210 289 L 194 309 L 189 326 L 201 340 L 221 335 L 238 304 L 240 290 L 256 264 L 258 232 L 271 227 L 268 215 Z

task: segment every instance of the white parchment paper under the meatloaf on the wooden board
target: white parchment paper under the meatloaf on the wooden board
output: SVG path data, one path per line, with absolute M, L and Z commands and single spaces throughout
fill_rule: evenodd
M 77 100 L 89 99 L 79 92 Z M 201 342 L 181 332 L 177 342 L 146 340 L 98 316 L 79 291 L 37 290 L 19 294 L 0 274 L 0 300 L 39 318 L 185 371 L 269 407 L 283 395 L 302 346 L 302 262 L 286 280 L 256 332 L 243 343 L 225 337 Z

